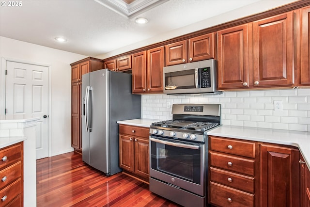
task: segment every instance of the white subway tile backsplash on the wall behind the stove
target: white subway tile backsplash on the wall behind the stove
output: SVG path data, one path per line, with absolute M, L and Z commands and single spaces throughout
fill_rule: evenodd
M 276 100 L 282 101 L 282 111 L 274 111 Z M 219 103 L 223 125 L 310 131 L 310 89 L 227 91 L 201 96 L 143 95 L 142 118 L 171 119 L 174 103 Z

